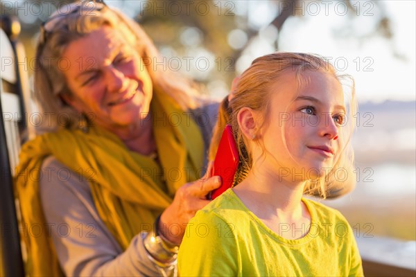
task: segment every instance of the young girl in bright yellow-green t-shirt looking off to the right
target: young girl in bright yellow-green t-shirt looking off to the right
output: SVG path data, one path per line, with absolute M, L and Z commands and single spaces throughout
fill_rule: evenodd
M 363 275 L 345 217 L 302 197 L 354 177 L 346 77 L 300 53 L 259 57 L 241 75 L 230 123 L 245 174 L 189 222 L 180 276 Z

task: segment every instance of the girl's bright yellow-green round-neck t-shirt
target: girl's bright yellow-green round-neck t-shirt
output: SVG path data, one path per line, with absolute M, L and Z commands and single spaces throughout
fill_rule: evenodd
M 288 240 L 227 190 L 189 222 L 178 256 L 180 276 L 363 276 L 345 217 L 310 199 L 302 201 L 311 214 L 309 232 Z

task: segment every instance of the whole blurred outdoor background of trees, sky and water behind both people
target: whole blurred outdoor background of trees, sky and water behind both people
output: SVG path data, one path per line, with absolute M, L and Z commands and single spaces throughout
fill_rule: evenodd
M 204 84 L 214 98 L 227 95 L 255 57 L 277 50 L 317 53 L 352 75 L 357 186 L 325 204 L 344 213 L 361 247 L 403 242 L 387 258 L 416 269 L 406 261 L 416 253 L 415 1 L 105 2 L 144 27 L 164 57 L 158 66 Z M 21 22 L 29 75 L 39 26 L 60 8 L 1 1 L 1 14 Z

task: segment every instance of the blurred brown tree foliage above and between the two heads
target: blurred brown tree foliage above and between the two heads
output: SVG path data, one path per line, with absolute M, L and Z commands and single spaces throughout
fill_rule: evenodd
M 202 4 L 203 3 L 203 4 Z M 265 6 L 268 10 L 264 17 L 269 20 L 261 24 L 253 24 L 253 9 L 256 6 Z M 315 10 L 314 10 L 315 9 Z M 303 0 L 280 0 L 280 1 L 160 1 L 151 0 L 142 5 L 139 12 L 139 22 L 155 39 L 158 46 L 175 49 L 173 55 L 186 56 L 196 53 L 198 49 L 204 49 L 205 53 L 211 53 L 211 64 L 214 70 L 207 75 L 190 72 L 193 78 L 207 84 L 213 89 L 227 90 L 232 78 L 236 73 L 236 62 L 243 53 L 250 52 L 251 44 L 259 39 L 261 30 L 272 27 L 277 35 L 268 39 L 269 48 L 279 50 L 279 34 L 285 27 L 286 21 L 291 17 L 307 19 L 326 12 L 338 12 L 347 17 L 345 24 L 335 28 L 333 34 L 338 37 L 356 38 L 363 41 L 370 37 L 381 36 L 385 39 L 392 38 L 390 19 L 387 17 L 382 1 L 303 1 Z M 272 16 L 270 17 L 270 13 Z M 368 17 L 370 15 L 370 17 Z M 262 16 L 262 15 L 260 15 Z M 365 19 L 367 30 L 357 31 L 358 24 L 353 21 Z M 370 23 L 369 23 L 370 22 Z M 369 28 L 370 27 L 370 28 Z M 189 28 L 196 28 L 196 32 L 187 32 Z M 239 32 L 236 32 L 239 30 Z M 358 33 L 360 35 L 358 35 Z M 234 35 L 234 36 L 233 36 Z M 267 34 L 266 34 L 267 35 Z M 294 34 L 295 35 L 295 34 Z M 185 39 L 201 37 L 198 45 L 189 45 Z M 231 42 L 234 39 L 233 45 Z M 241 45 L 242 44 L 242 45 Z M 204 51 L 200 51 L 204 53 Z M 395 51 L 396 52 L 396 51 Z M 252 55 L 253 56 L 253 55 Z M 253 56 L 252 58 L 254 58 Z M 252 59 L 250 59 L 252 60 Z M 198 71 L 198 69 L 196 69 Z M 220 84 L 218 80 L 223 81 Z M 220 94 L 220 93 L 218 93 Z

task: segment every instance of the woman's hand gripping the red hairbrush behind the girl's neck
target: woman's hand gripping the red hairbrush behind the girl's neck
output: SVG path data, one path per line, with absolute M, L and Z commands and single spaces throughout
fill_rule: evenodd
M 182 242 L 189 220 L 197 211 L 211 202 L 211 200 L 207 200 L 207 194 L 220 186 L 221 178 L 219 176 L 209 177 L 210 168 L 211 164 L 205 177 L 180 187 L 172 204 L 162 213 L 159 221 L 159 233 L 170 242 L 177 245 Z

